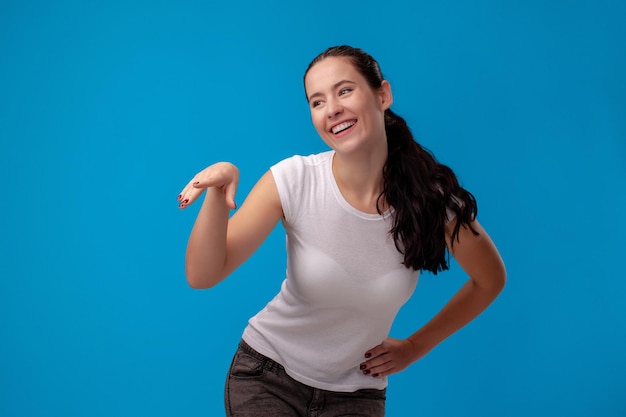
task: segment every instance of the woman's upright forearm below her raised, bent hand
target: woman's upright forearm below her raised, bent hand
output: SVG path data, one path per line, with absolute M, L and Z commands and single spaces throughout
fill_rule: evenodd
M 193 288 L 209 288 L 224 279 L 229 213 L 224 193 L 207 188 L 185 256 L 187 282 Z

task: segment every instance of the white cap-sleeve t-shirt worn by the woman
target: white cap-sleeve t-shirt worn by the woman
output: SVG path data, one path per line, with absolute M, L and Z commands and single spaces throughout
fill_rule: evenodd
M 391 216 L 356 210 L 332 174 L 334 152 L 271 168 L 287 233 L 287 277 L 252 317 L 243 339 L 306 385 L 341 392 L 383 389 L 363 375 L 367 350 L 388 335 L 419 272 L 402 265 Z

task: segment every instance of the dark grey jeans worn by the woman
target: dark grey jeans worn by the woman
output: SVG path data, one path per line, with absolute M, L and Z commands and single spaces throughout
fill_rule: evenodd
M 228 372 L 224 403 L 229 417 L 382 417 L 385 390 L 309 387 L 242 340 Z

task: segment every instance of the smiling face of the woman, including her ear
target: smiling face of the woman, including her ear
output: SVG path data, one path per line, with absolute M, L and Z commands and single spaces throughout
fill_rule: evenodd
M 336 152 L 386 146 L 384 112 L 392 102 L 387 81 L 372 90 L 348 58 L 331 57 L 309 70 L 304 86 L 313 125 Z

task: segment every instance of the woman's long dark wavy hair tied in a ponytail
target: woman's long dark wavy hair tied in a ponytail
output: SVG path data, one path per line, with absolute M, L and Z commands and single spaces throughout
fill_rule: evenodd
M 365 51 L 346 45 L 328 48 L 315 57 L 305 77 L 313 65 L 329 57 L 350 59 L 369 86 L 375 91 L 380 89 L 384 78 L 378 62 Z M 478 235 L 471 225 L 478 213 L 476 199 L 459 185 L 450 168 L 415 141 L 404 119 L 391 109 L 385 111 L 385 132 L 388 155 L 383 167 L 383 191 L 376 207 L 382 214 L 380 202 L 384 198 L 394 210 L 390 233 L 404 255 L 403 264 L 436 274 L 449 268 L 446 208 L 457 219 L 451 235 L 454 244 L 461 227 L 467 226 Z

